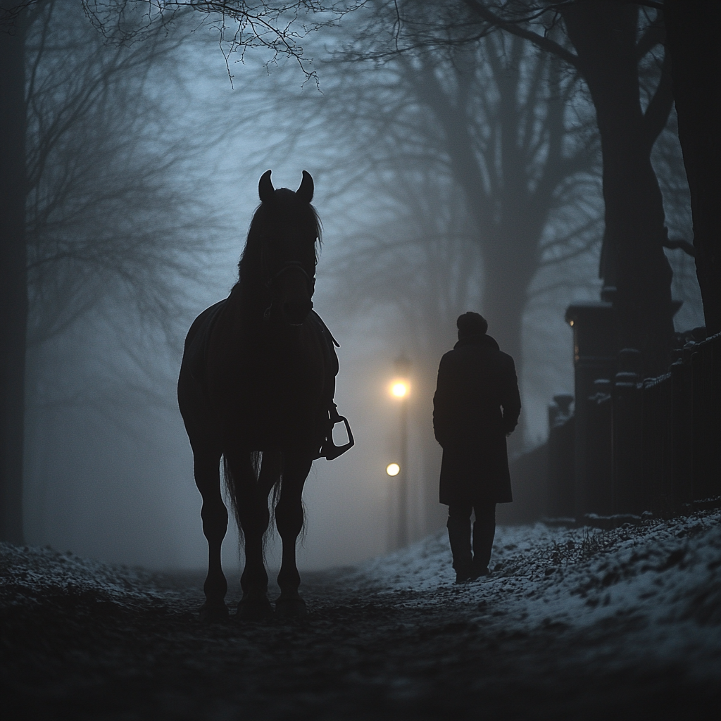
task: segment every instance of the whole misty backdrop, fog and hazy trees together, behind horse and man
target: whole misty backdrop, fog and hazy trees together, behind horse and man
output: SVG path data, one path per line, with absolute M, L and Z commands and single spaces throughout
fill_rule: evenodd
M 600 147 L 578 74 L 500 33 L 373 56 L 374 4 L 304 40 L 310 78 L 260 48 L 228 54 L 212 18 L 118 47 L 79 4 L 59 5 L 43 4 L 26 44 L 28 544 L 205 565 L 174 386 L 190 323 L 236 280 L 268 168 L 275 187 L 295 189 L 302 169 L 315 180 L 314 304 L 341 344 L 335 402 L 356 441 L 314 463 L 301 570 L 392 548 L 399 353 L 412 362 L 411 537 L 444 522 L 432 397 L 460 313 L 484 314 L 516 358 L 511 453 L 545 440 L 550 399 L 573 389 L 565 309 L 601 289 Z M 640 63 L 645 102 L 662 56 L 658 46 Z M 669 236 L 688 239 L 673 111 L 652 159 Z M 676 329 L 702 325 L 693 258 L 666 253 Z M 231 528 L 230 568 L 235 538 Z

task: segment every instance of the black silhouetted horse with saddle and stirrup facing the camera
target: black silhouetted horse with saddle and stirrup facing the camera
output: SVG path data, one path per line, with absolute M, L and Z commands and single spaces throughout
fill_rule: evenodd
M 332 460 L 353 445 L 348 421 L 333 402 L 338 345 L 313 311 L 321 222 L 311 205 L 314 183 L 303 171 L 298 190 L 275 190 L 270 170 L 260 177 L 252 217 L 227 298 L 205 309 L 185 340 L 178 405 L 193 449 L 200 516 L 208 541 L 208 575 L 200 617 L 229 617 L 221 544 L 228 510 L 224 481 L 244 540 L 239 619 L 274 613 L 263 555 L 273 491 L 275 525 L 283 541 L 277 616 L 303 616 L 296 539 L 304 523 L 302 492 L 314 459 Z M 345 423 L 348 442 L 332 429 Z

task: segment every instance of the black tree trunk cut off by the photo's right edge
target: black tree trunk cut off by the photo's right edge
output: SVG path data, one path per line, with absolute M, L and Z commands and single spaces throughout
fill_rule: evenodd
M 696 275 L 709 334 L 721 332 L 721 4 L 665 0 L 678 138 L 694 218 Z

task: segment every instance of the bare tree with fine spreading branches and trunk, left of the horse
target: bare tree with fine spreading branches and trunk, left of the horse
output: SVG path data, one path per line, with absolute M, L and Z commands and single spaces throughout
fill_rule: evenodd
M 4 8 L 0 32 L 0 127 L 9 140 L 0 167 L 0 537 L 14 542 L 22 540 L 28 348 L 37 405 L 43 344 L 108 297 L 125 297 L 169 337 L 175 278 L 190 278 L 188 254 L 207 242 L 199 203 L 174 175 L 218 138 L 212 127 L 205 136 L 166 133 L 149 92 L 152 68 L 174 82 L 179 40 L 158 32 L 133 48 L 106 47 L 79 4 L 19 5 Z

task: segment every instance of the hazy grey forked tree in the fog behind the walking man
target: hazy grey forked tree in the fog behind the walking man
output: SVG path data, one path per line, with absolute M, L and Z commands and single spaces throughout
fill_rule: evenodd
M 441 130 L 439 145 L 482 248 L 484 314 L 502 348 L 521 363 L 523 312 L 546 250 L 549 216 L 570 202 L 574 184 L 593 175 L 596 148 L 567 127 L 575 79 L 526 52 L 518 38 L 488 37 L 472 68 L 456 58 L 451 77 L 438 72 L 438 60 L 426 53 L 415 63 L 403 59 L 404 81 Z

